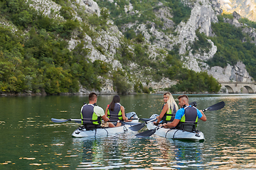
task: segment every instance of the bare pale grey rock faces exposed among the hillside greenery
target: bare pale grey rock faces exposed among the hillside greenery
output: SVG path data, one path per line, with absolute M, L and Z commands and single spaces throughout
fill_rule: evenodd
M 33 8 L 36 8 L 38 11 L 42 11 L 44 15 L 47 15 L 51 18 L 56 18 L 58 20 L 63 20 L 64 18 L 60 16 L 60 8 L 59 4 L 55 4 L 54 1 L 38 1 L 32 0 L 28 3 L 31 3 Z M 74 18 L 78 19 L 78 21 L 82 21 L 78 13 L 87 13 L 87 15 L 91 15 L 93 13 L 100 16 L 100 7 L 97 4 L 97 1 L 92 0 L 76 0 L 69 1 L 74 11 Z M 110 3 L 115 3 L 114 1 L 110 1 Z M 155 10 L 155 14 L 157 18 L 161 21 L 164 21 L 164 26 L 159 29 L 156 28 L 156 24 L 154 22 L 147 21 L 146 23 L 129 23 L 119 29 L 114 25 L 114 22 L 109 20 L 107 22 L 108 29 L 95 31 L 97 36 L 90 37 L 89 35 L 85 35 L 83 39 L 85 43 L 85 48 L 90 51 L 90 60 L 102 60 L 107 63 L 111 63 L 114 69 L 124 69 L 122 64 L 117 60 L 115 55 L 117 54 L 117 50 L 124 44 L 124 31 L 126 28 L 134 28 L 135 33 L 142 33 L 144 36 L 144 45 L 148 46 L 148 55 L 151 60 L 156 60 L 156 58 L 164 58 L 169 50 L 173 50 L 174 46 L 178 46 L 178 53 L 181 55 L 181 60 L 183 61 L 183 66 L 192 69 L 196 72 L 208 72 L 208 74 L 213 75 L 215 79 L 219 81 L 252 81 L 252 78 L 248 74 L 245 69 L 245 64 L 242 62 L 238 62 L 234 66 L 228 65 L 228 67 L 209 67 L 206 64 L 206 61 L 212 58 L 217 51 L 217 47 L 214 43 L 208 39 L 210 43 L 210 49 L 208 51 L 202 52 L 192 52 L 191 45 L 195 40 L 198 40 L 196 36 L 196 31 L 199 30 L 199 33 L 204 33 L 206 36 L 214 36 L 214 33 L 211 28 L 211 23 L 218 22 L 217 15 L 222 13 L 222 9 L 220 8 L 220 4 L 217 0 L 196 0 L 196 1 L 183 1 L 185 6 L 189 6 L 191 8 L 191 16 L 188 18 L 188 21 L 181 23 L 174 23 L 171 20 L 171 8 L 164 6 L 161 2 L 157 4 L 159 8 Z M 117 6 L 117 3 L 115 3 Z M 124 6 L 124 11 L 129 14 L 138 13 L 138 11 L 134 10 L 131 3 L 129 5 Z M 241 26 L 238 22 L 238 18 L 235 17 L 232 21 L 227 21 L 235 26 Z M 174 29 L 173 33 L 165 32 L 166 29 Z M 93 30 L 93 29 L 92 29 Z M 255 37 L 255 29 L 243 27 L 243 31 L 245 33 L 250 34 L 251 37 Z M 76 34 L 73 34 L 73 38 L 71 38 L 68 42 L 69 49 L 73 50 L 80 40 L 77 40 Z M 152 39 L 154 38 L 154 39 Z M 256 38 L 255 38 L 256 41 Z M 256 42 L 255 42 L 256 43 Z M 97 49 L 100 47 L 101 51 Z M 129 49 L 132 51 L 133 45 L 129 45 Z M 159 52 L 161 51 L 161 52 Z M 145 69 L 145 68 L 144 68 Z M 146 68 L 149 69 L 150 68 Z M 172 86 L 176 84 L 176 81 L 172 81 L 170 79 L 164 78 L 159 82 L 152 81 L 151 77 L 145 77 L 140 71 L 139 66 L 136 63 L 129 64 L 129 72 L 137 77 L 144 86 L 151 86 L 156 91 L 161 91 L 165 87 Z M 239 75 L 239 76 L 237 76 Z M 102 79 L 102 91 L 101 94 L 114 94 L 113 84 L 110 79 L 105 79 L 103 77 L 99 77 Z M 149 81 L 150 83 L 146 83 Z M 80 89 L 79 94 L 88 94 L 89 91 L 86 89 Z

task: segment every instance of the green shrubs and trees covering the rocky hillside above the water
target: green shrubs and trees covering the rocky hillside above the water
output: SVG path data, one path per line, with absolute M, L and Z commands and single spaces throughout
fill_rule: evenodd
M 190 8 L 184 6 L 181 1 L 117 1 L 117 6 L 109 1 L 97 1 L 101 8 L 100 16 L 77 11 L 82 21 L 75 19 L 74 9 L 70 1 L 55 0 L 61 6 L 60 16 L 63 20 L 50 18 L 43 13 L 30 7 L 26 1 L 6 0 L 0 2 L 1 23 L 10 23 L 10 26 L 0 24 L 0 92 L 23 93 L 33 91 L 47 94 L 60 94 L 77 92 L 80 85 L 85 89 L 102 88 L 102 79 L 111 79 L 114 90 L 119 94 L 128 92 L 149 93 L 154 89 L 143 84 L 149 81 L 160 81 L 164 77 L 177 82 L 168 90 L 171 92 L 186 91 L 218 92 L 220 85 L 206 72 L 193 72 L 185 69 L 178 55 L 178 45 L 173 50 L 157 49 L 154 59 L 149 57 L 151 43 L 144 40 L 143 33 L 134 27 L 127 27 L 129 23 L 155 24 L 164 33 L 175 35 L 174 29 L 181 23 L 186 22 L 190 16 Z M 137 13 L 126 13 L 124 6 L 132 4 Z M 103 6 L 105 8 L 103 8 Z M 174 21 L 172 28 L 166 28 L 164 21 L 156 16 L 160 7 L 171 8 Z M 100 35 L 99 31 L 109 30 L 111 24 L 107 21 L 112 19 L 124 37 L 122 43 L 114 55 L 114 59 L 122 64 L 122 68 L 113 68 L 111 62 L 102 60 L 90 60 L 90 49 L 86 47 L 85 36 L 92 38 L 95 49 L 105 55 L 105 49 L 95 42 Z M 223 23 L 213 24 L 215 37 L 211 38 L 218 47 L 218 52 L 212 60 L 208 61 L 211 66 L 225 66 L 237 60 L 244 60 L 250 74 L 254 74 L 254 48 L 250 42 L 242 42 L 245 35 L 240 30 L 234 31 L 228 39 L 228 30 L 220 30 Z M 227 28 L 233 28 L 226 25 Z M 220 33 L 219 33 L 220 32 Z M 208 49 L 206 35 L 197 33 L 193 50 Z M 74 49 L 68 47 L 71 38 L 78 40 Z M 226 39 L 225 39 L 226 38 Z M 222 40 L 222 41 L 221 41 Z M 242 50 L 231 50 L 231 42 L 237 42 Z M 151 42 L 154 42 L 152 37 Z M 227 46 L 227 43 L 230 46 Z M 242 46 L 241 46 L 242 45 Z M 230 48 L 229 48 L 230 47 Z M 236 47 L 236 46 L 235 46 Z M 238 49 L 238 48 L 237 48 Z M 230 51 L 231 55 L 230 55 Z M 242 52 L 243 55 L 240 55 Z M 233 54 L 234 53 L 234 54 Z M 224 55 L 223 55 L 224 54 Z M 247 55 L 251 57 L 248 58 Z M 242 57 L 244 56 L 244 57 Z M 247 62 L 246 62 L 247 61 Z M 137 73 L 130 67 L 134 63 L 139 67 L 139 74 L 146 79 L 137 79 Z M 251 67 L 250 67 L 251 66 Z M 138 70 L 137 70 L 138 71 Z M 148 79 L 147 79 L 148 78 Z

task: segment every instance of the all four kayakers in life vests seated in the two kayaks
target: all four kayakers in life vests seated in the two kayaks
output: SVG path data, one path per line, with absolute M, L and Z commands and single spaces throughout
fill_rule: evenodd
M 122 125 L 122 121 L 128 122 L 125 116 L 124 107 L 119 103 L 120 97 L 114 96 L 110 105 L 107 106 L 105 112 L 102 108 L 97 106 L 97 94 L 89 94 L 89 103 L 81 108 L 82 124 L 86 129 L 110 127 L 114 128 Z M 206 115 L 203 111 L 199 111 L 195 106 L 188 103 L 188 96 L 185 94 L 178 96 L 178 109 L 174 97 L 171 93 L 164 94 L 164 106 L 155 125 L 164 126 L 164 128 L 176 128 L 187 131 L 196 130 L 198 118 L 206 121 Z M 104 120 L 104 123 L 102 123 Z

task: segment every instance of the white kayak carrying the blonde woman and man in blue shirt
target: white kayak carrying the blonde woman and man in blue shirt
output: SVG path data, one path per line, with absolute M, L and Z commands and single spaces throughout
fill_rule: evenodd
M 150 118 L 156 118 L 157 114 L 151 115 Z M 190 140 L 190 141 L 199 141 L 203 142 L 205 140 L 203 132 L 187 132 L 183 130 L 177 129 L 169 129 L 169 128 L 158 128 L 154 123 L 147 123 L 146 127 L 149 130 L 156 129 L 154 134 L 159 135 L 161 137 L 172 138 L 177 140 Z

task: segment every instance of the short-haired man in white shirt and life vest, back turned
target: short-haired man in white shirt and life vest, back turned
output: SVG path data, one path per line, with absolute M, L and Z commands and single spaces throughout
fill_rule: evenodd
M 85 128 L 88 130 L 93 128 L 101 128 L 101 118 L 107 122 L 110 120 L 105 115 L 105 112 L 102 108 L 96 105 L 97 103 L 97 94 L 89 94 L 89 103 L 85 104 L 81 108 L 81 119 L 82 124 L 85 125 Z

